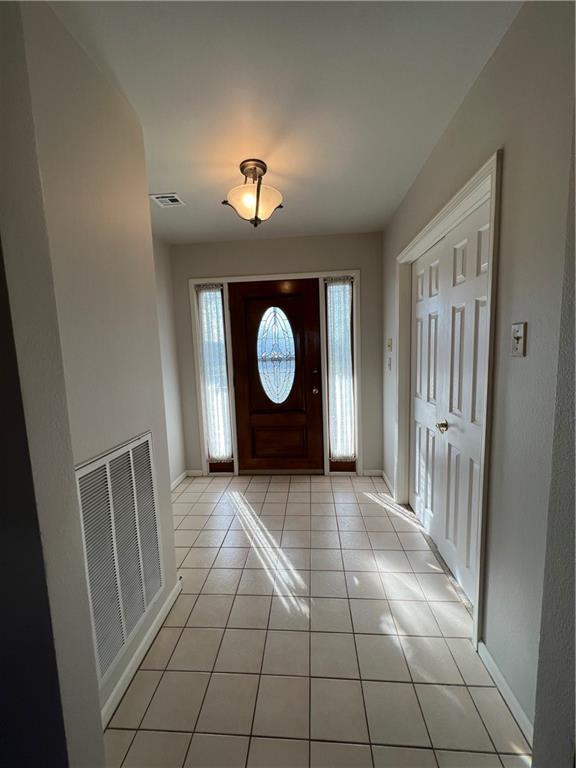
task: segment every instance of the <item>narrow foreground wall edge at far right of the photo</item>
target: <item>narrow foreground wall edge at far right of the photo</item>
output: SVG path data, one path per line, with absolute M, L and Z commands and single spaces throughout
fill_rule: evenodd
M 574 768 L 574 158 L 558 352 L 534 768 Z

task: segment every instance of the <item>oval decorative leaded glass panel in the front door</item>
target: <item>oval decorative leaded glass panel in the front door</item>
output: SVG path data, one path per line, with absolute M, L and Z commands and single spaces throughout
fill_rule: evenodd
M 292 327 L 280 307 L 268 307 L 262 315 L 256 339 L 256 356 L 264 392 L 273 403 L 283 403 L 294 384 L 296 355 Z

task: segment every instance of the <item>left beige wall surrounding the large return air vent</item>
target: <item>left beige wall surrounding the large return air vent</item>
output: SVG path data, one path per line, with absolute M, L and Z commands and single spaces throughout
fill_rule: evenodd
M 165 565 L 161 606 L 176 574 L 142 133 L 123 94 L 94 66 L 48 4 L 24 3 L 21 13 L 71 460 L 79 464 L 151 431 Z M 28 300 L 34 304 L 32 292 Z M 43 438 L 44 459 L 49 461 L 51 431 Z M 68 523 L 76 532 L 77 522 Z M 50 524 L 63 526 L 59 518 Z M 61 533 L 60 557 L 65 559 L 71 553 L 65 529 Z M 68 591 L 69 585 L 58 588 Z M 147 618 L 133 639 L 127 660 L 153 618 Z M 88 658 L 90 643 L 84 644 L 83 653 Z M 110 676 L 102 702 L 122 672 L 118 668 Z

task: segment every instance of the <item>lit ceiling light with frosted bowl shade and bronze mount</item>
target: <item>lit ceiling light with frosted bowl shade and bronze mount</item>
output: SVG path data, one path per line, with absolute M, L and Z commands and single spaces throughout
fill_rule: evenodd
M 244 176 L 244 184 L 233 187 L 228 192 L 222 205 L 229 205 L 238 216 L 257 227 L 278 208 L 283 208 L 282 195 L 274 187 L 262 184 L 262 176 L 268 170 L 263 160 L 243 160 L 240 163 L 240 173 Z

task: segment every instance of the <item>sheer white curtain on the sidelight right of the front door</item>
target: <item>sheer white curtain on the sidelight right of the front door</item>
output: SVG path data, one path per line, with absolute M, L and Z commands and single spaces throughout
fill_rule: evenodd
M 352 278 L 326 280 L 330 458 L 356 458 L 352 364 Z

